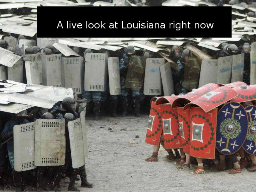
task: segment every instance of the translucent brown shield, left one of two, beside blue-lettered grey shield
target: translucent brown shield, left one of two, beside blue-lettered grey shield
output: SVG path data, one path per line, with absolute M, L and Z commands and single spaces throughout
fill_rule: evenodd
M 132 55 L 124 86 L 126 88 L 141 89 L 146 66 L 146 57 Z

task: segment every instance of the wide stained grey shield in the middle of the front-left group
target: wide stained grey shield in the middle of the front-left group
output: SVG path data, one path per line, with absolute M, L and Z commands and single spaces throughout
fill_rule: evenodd
M 64 165 L 65 152 L 65 119 L 36 120 L 35 165 Z

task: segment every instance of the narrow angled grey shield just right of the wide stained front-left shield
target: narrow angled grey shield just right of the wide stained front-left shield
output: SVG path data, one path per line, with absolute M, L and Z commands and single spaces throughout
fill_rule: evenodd
M 84 165 L 84 144 L 81 119 L 68 122 L 68 133 L 72 158 L 72 167 L 78 168 Z

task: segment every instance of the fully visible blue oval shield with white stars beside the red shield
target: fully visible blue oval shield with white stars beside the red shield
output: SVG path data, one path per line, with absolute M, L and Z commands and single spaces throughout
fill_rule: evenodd
M 221 154 L 237 152 L 244 144 L 248 118 L 243 106 L 236 102 L 225 104 L 218 112 L 216 148 Z

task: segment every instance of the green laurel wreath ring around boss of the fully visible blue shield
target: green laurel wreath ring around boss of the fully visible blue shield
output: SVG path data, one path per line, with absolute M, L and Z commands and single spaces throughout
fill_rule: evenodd
M 225 131 L 225 126 L 228 123 L 233 123 L 236 126 L 236 131 L 233 134 L 228 134 Z M 222 136 L 224 136 L 224 138 L 234 139 L 241 133 L 240 123 L 236 119 L 227 118 L 224 121 L 222 121 L 221 124 L 220 124 L 220 133 L 222 134 Z

